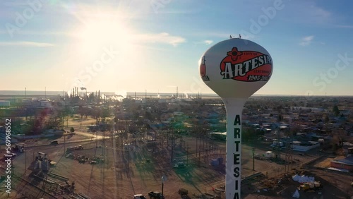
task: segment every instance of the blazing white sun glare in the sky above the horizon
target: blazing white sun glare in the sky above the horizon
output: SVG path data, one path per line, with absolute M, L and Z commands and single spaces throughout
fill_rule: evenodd
M 87 87 L 105 83 L 107 90 L 116 90 L 116 85 L 125 89 L 122 86 L 131 77 L 145 78 L 141 71 L 148 69 L 141 63 L 148 60 L 149 52 L 138 31 L 131 28 L 128 16 L 109 9 L 104 13 L 84 13 L 77 15 L 80 23 L 72 32 L 75 37 L 68 49 L 72 57 L 68 63 L 79 68 L 76 78 Z M 103 63 L 102 69 L 96 69 L 97 63 Z

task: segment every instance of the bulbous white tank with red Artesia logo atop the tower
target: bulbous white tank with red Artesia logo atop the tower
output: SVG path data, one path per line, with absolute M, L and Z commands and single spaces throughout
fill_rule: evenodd
M 210 47 L 199 61 L 200 75 L 222 98 L 248 98 L 271 77 L 273 63 L 266 49 L 242 39 Z

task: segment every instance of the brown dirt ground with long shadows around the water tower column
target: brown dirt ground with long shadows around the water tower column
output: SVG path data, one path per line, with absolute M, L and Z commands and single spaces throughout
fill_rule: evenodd
M 83 122 L 85 125 L 89 125 L 95 121 L 84 119 Z M 69 184 L 75 181 L 75 191 L 84 193 L 90 198 L 132 198 L 134 194 L 138 193 L 146 196 L 149 191 L 161 192 L 162 176 L 165 179 L 163 182 L 165 198 L 180 198 L 179 188 L 188 190 L 191 198 L 196 198 L 197 195 L 203 193 L 217 195 L 217 191 L 214 192 L 213 188 L 224 189 L 224 166 L 210 166 L 212 159 L 225 158 L 224 142 L 208 140 L 205 143 L 198 143 L 198 148 L 196 148 L 196 138 L 184 137 L 183 142 L 179 140 L 174 145 L 172 154 L 172 147 L 171 145 L 167 147 L 168 143 L 165 138 L 158 140 L 156 146 L 146 146 L 146 139 L 143 140 L 140 137 L 104 138 L 102 132 L 94 135 L 94 133 L 86 131 L 85 127 L 80 128 L 80 120 L 71 121 L 70 124 L 76 125 L 76 135 L 66 136 L 65 145 L 62 137 L 54 139 L 59 140 L 59 145 L 49 145 L 49 141 L 53 139 L 26 140 L 25 143 L 29 146 L 28 150 L 18 154 L 13 162 L 16 174 L 30 181 L 35 154 L 44 152 L 52 161 L 56 162 L 56 166 L 52 167 L 49 173 L 67 177 Z M 97 135 L 100 138 L 98 141 L 95 140 Z M 148 138 L 148 135 L 144 136 Z M 83 150 L 73 150 L 72 153 L 76 159 L 65 157 L 65 149 L 76 145 L 84 147 Z M 201 145 L 202 148 L 208 150 L 199 151 Z M 213 148 L 214 146 L 217 147 Z M 288 176 L 278 176 L 285 171 L 285 165 L 269 160 L 254 159 L 253 170 L 252 149 L 253 145 L 248 143 L 242 145 L 241 176 L 244 178 L 259 171 L 263 173 L 263 176 L 242 184 L 242 198 L 292 198 L 292 193 L 297 189 L 299 183 L 291 181 Z M 268 150 L 270 150 L 268 143 L 257 144 L 255 147 L 255 153 L 260 155 Z M 84 155 L 87 162 L 79 163 L 79 155 Z M 283 152 L 281 156 L 284 157 Z M 88 164 L 97 157 L 104 159 L 104 161 Z M 315 157 L 317 157 L 316 152 L 304 156 L 294 154 L 293 158 L 296 161 L 290 168 L 298 169 L 299 172 L 302 163 Z M 188 164 L 188 167 L 173 168 L 177 162 L 184 162 Z M 1 162 L 1 164 L 3 163 Z M 321 196 L 324 198 L 349 198 L 350 195 L 353 195 L 350 186 L 352 176 L 319 169 L 307 169 L 306 171 L 323 183 L 324 191 L 322 195 L 301 193 L 302 198 L 322 198 Z M 60 184 L 65 183 L 50 176 L 49 179 Z M 278 183 L 279 179 L 282 181 L 280 184 Z M 39 186 L 42 184 L 42 182 L 39 183 Z M 20 186 L 20 183 L 17 186 Z M 49 186 L 45 187 L 49 191 Z M 264 191 L 264 188 L 268 191 Z M 20 187 L 14 187 L 15 191 L 16 189 L 20 190 Z M 56 198 L 61 198 L 60 191 L 51 190 L 51 193 Z M 221 198 L 225 198 L 224 193 L 221 193 Z

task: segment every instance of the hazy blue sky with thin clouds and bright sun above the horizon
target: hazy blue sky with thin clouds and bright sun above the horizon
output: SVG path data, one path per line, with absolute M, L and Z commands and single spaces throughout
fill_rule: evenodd
M 28 4 L 30 2 L 30 4 Z M 353 95 L 353 1 L 0 3 L 0 90 L 213 93 L 205 50 L 242 35 L 270 52 L 263 95 Z

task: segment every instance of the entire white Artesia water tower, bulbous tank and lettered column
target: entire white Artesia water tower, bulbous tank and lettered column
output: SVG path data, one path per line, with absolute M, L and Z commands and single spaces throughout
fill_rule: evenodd
M 210 47 L 199 61 L 200 76 L 227 110 L 225 195 L 241 198 L 241 112 L 244 103 L 268 82 L 273 71 L 270 54 L 249 40 L 225 40 Z

